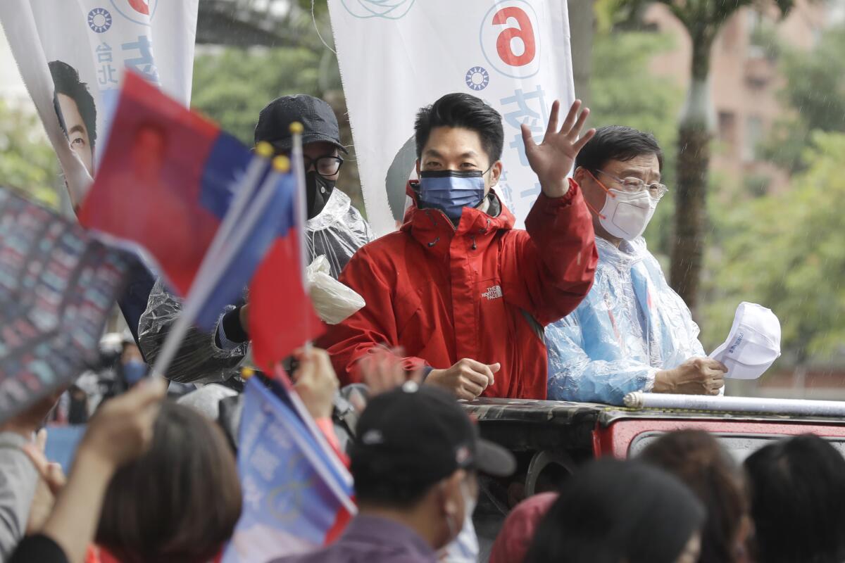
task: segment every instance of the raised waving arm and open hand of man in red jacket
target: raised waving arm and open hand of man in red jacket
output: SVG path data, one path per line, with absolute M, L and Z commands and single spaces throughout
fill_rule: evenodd
M 542 143 L 527 127 L 522 136 L 526 156 L 542 192 L 526 218 L 526 231 L 515 230 L 505 240 L 514 252 L 503 254 L 506 300 L 545 326 L 578 306 L 592 285 L 598 254 L 589 210 L 574 181 L 567 176 L 575 157 L 596 133 L 583 136 L 590 111 L 575 100 L 558 129 L 560 104 L 555 101 Z

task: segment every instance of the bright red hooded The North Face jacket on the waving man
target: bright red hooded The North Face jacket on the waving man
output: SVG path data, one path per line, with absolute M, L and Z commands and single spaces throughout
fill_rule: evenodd
M 411 192 L 412 190 L 409 190 Z M 575 310 L 590 290 L 597 252 L 580 188 L 542 193 L 527 230 L 491 192 L 492 217 L 464 208 L 455 227 L 437 209 L 408 209 L 401 230 L 360 248 L 340 281 L 367 305 L 330 326 L 341 383 L 360 382 L 357 360 L 379 344 L 401 346 L 408 370 L 461 358 L 499 362 L 488 397 L 546 398 L 542 327 Z

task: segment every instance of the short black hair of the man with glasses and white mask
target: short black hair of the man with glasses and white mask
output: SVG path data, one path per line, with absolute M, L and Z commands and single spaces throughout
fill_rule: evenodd
M 608 125 L 597 129 L 596 134 L 584 145 L 575 157 L 575 168 L 586 168 L 593 173 L 602 170 L 610 160 L 627 162 L 646 154 L 657 155 L 657 163 L 663 170 L 663 151 L 651 133 L 643 133 L 634 127 Z

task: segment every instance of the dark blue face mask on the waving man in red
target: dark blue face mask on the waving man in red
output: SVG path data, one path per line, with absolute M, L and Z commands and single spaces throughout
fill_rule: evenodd
M 422 171 L 419 197 L 423 207 L 437 208 L 449 219 L 457 221 L 465 207 L 478 207 L 484 198 L 482 172 Z

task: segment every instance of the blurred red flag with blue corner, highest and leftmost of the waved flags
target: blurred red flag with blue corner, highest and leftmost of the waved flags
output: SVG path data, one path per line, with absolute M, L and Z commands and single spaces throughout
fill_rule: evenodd
M 252 158 L 213 122 L 126 73 L 79 222 L 143 246 L 188 295 Z

